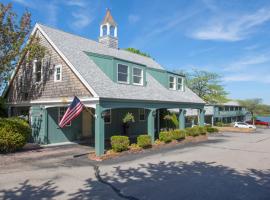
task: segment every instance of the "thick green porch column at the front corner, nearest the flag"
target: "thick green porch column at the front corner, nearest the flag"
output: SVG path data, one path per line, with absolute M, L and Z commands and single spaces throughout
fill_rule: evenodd
M 95 117 L 95 152 L 97 156 L 104 154 L 104 119 L 102 117 L 103 108 L 99 104 L 96 105 Z

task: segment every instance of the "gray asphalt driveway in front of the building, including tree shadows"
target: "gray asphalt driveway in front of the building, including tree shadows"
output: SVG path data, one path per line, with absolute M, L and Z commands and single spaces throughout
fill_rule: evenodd
M 270 199 L 270 129 L 102 163 L 65 148 L 0 156 L 0 199 Z

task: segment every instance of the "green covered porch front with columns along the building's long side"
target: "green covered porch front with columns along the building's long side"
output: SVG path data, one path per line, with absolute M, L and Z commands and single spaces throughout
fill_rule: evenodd
M 105 151 L 105 141 L 112 135 L 121 134 L 121 117 L 120 113 L 135 112 L 139 109 L 145 109 L 145 121 L 141 124 L 136 124 L 135 130 L 129 130 L 130 135 L 136 136 L 139 134 L 148 134 L 152 143 L 154 143 L 155 135 L 160 131 L 160 109 L 179 109 L 179 129 L 185 128 L 185 109 L 192 108 L 199 111 L 199 125 L 204 126 L 204 104 L 199 103 L 177 103 L 177 102 L 152 102 L 152 101 L 138 101 L 138 100 L 115 100 L 115 99 L 100 99 L 95 105 L 95 122 L 94 122 L 94 138 L 95 138 L 95 152 L 97 156 L 103 155 Z M 106 120 L 108 111 L 112 112 L 112 120 L 117 122 L 109 125 Z M 114 117 L 116 116 L 116 119 Z M 117 117 L 118 116 L 118 117 Z M 137 114 L 136 114 L 137 116 Z M 118 124 L 118 126 L 115 126 Z M 131 127 L 132 128 L 132 127 Z M 141 132 L 142 131 L 142 132 Z

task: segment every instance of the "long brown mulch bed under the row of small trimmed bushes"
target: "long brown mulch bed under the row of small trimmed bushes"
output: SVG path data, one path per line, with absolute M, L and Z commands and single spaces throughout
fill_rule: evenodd
M 165 148 L 168 146 L 175 146 L 175 145 L 181 145 L 181 144 L 187 144 L 187 143 L 198 143 L 198 142 L 203 142 L 207 140 L 208 140 L 208 135 L 200 135 L 197 137 L 187 136 L 185 139 L 180 140 L 180 141 L 174 140 L 170 143 L 160 142 L 158 144 L 154 144 L 149 149 L 160 149 L 160 148 Z M 129 149 L 128 151 L 123 151 L 123 152 L 114 152 L 112 150 L 109 150 L 109 151 L 106 151 L 105 154 L 102 156 L 96 156 L 95 153 L 90 153 L 88 158 L 94 161 L 103 161 L 103 160 L 117 158 L 119 156 L 128 156 L 130 154 L 143 153 L 145 150 L 147 149 L 136 148 L 136 149 Z

